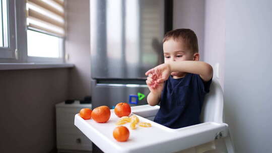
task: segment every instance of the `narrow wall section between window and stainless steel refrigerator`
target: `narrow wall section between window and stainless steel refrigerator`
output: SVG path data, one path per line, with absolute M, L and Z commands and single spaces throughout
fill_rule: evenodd
M 67 36 L 66 52 L 70 71 L 69 98 L 83 99 L 91 95 L 90 7 L 88 0 L 66 2 Z

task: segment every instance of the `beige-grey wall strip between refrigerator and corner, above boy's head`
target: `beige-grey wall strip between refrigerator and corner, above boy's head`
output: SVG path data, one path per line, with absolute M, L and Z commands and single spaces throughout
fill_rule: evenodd
M 198 39 L 200 59 L 203 60 L 205 1 L 174 0 L 173 29 L 192 29 Z

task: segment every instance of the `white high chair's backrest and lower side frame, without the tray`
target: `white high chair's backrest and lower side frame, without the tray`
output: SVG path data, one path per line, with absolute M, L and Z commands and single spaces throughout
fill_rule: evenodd
M 224 121 L 224 96 L 223 90 L 217 79 L 213 79 L 210 87 L 210 93 L 206 95 L 202 106 L 200 120 L 205 122 L 223 123 Z M 234 152 L 230 131 L 226 127 L 226 135 L 216 133 L 215 140 L 201 144 L 195 147 L 188 148 L 180 152 Z

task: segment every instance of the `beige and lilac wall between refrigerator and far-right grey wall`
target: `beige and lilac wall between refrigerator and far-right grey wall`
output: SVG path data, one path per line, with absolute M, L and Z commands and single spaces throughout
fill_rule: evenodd
M 189 28 L 196 33 L 200 60 L 211 64 L 214 74 L 219 63 L 218 80 L 224 88 L 225 0 L 174 0 L 173 3 L 173 29 Z

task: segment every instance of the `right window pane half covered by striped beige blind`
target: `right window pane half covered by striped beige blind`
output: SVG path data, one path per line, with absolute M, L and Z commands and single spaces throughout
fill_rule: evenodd
M 28 0 L 27 55 L 29 61 L 61 61 L 63 57 L 64 2 Z

